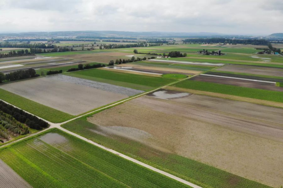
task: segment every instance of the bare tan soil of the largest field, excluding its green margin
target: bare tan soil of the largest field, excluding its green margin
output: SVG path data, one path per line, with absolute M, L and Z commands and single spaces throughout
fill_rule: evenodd
M 283 109 L 248 102 L 195 94 L 160 99 L 159 95 L 125 102 L 88 121 L 103 126 L 101 133 L 134 137 L 155 148 L 279 187 L 283 179 L 282 115 Z M 141 133 L 144 136 L 137 136 Z

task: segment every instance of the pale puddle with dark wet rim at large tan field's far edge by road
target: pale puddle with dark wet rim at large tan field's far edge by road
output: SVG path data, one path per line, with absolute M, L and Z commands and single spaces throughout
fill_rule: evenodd
M 180 91 L 161 89 L 159 91 L 155 91 L 155 92 L 147 94 L 147 95 L 152 96 L 152 97 L 156 97 L 156 98 L 159 98 L 159 99 L 175 99 L 175 98 L 187 97 L 187 96 L 190 96 L 191 94 L 180 92 Z

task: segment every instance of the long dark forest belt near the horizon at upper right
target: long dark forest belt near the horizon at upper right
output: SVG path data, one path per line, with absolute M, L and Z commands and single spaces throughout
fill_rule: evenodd
M 205 43 L 205 44 L 252 44 L 252 45 L 268 45 L 268 41 L 264 39 L 225 39 L 225 38 L 198 38 L 184 39 L 184 43 Z

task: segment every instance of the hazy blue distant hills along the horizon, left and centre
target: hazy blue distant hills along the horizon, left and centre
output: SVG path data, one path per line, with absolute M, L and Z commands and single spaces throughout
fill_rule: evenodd
M 11 37 L 219 37 L 227 36 L 220 33 L 185 33 L 185 32 L 130 32 L 130 31 L 56 31 L 56 32 L 27 32 L 0 33 L 0 36 Z

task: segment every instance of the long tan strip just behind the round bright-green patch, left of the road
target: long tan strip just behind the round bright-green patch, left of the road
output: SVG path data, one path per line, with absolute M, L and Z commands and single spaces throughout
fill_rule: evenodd
M 184 74 L 198 74 L 202 71 L 196 71 L 196 70 L 184 70 L 184 69 L 171 69 L 171 68 L 162 68 L 162 67 L 152 67 L 152 66 L 141 66 L 141 65 L 135 65 L 135 64 L 120 64 L 118 65 L 120 67 L 132 67 L 133 70 L 157 70 L 157 71 L 164 71 L 164 74 L 167 73 L 184 73 Z

